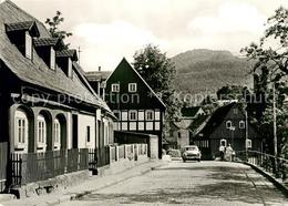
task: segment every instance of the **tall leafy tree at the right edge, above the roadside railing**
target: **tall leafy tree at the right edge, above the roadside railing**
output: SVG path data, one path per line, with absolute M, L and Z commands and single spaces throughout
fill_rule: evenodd
M 284 107 L 288 75 L 288 10 L 280 7 L 267 20 L 264 37 L 258 43 L 251 43 L 241 49 L 241 52 L 255 61 L 255 95 L 261 100 L 258 111 L 261 111 L 258 123 L 267 141 L 272 136 L 271 84 L 275 84 L 277 94 L 277 134 L 280 150 L 287 148 L 288 134 L 285 132 L 287 112 Z M 270 101 L 269 101 L 270 100 Z M 284 112 L 285 111 L 285 112 Z

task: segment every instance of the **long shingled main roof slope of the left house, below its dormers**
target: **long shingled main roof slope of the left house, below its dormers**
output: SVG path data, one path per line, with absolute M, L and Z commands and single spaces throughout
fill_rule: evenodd
M 35 21 L 40 37 L 51 38 L 49 31 L 40 21 L 7 0 L 0 3 L 0 61 L 23 82 L 82 99 L 83 102 L 92 105 L 104 105 L 109 110 L 105 102 L 93 94 L 85 82 L 82 81 L 81 72 L 78 71 L 79 68 L 75 64 L 73 64 L 73 78 L 71 79 L 60 69 L 56 71 L 49 69 L 37 52 L 33 53 L 33 61 L 22 55 L 6 34 L 4 23 L 23 21 Z

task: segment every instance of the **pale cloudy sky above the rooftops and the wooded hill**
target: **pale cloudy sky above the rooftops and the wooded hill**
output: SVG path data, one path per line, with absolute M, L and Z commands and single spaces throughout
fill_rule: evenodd
M 41 21 L 61 11 L 66 42 L 85 71 L 114 70 L 123 56 L 158 45 L 172 58 L 193 49 L 239 50 L 257 42 L 288 0 L 12 0 Z

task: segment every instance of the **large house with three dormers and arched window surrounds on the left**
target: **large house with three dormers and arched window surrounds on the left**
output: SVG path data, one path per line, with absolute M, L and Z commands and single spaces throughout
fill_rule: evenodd
M 9 154 L 113 142 L 112 111 L 90 86 L 75 50 L 61 45 L 39 20 L 9 0 L 0 3 L 0 143 Z

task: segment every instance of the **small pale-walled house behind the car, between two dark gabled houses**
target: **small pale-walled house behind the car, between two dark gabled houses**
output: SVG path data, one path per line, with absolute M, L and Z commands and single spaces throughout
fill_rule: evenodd
M 192 136 L 191 125 L 198 117 L 205 115 L 200 106 L 183 107 L 181 112 L 182 116 L 169 125 L 171 130 L 166 135 L 169 148 L 183 148 L 189 145 Z

